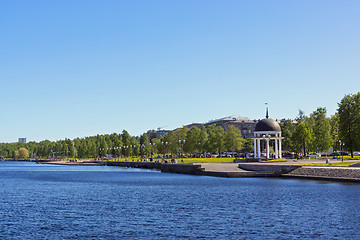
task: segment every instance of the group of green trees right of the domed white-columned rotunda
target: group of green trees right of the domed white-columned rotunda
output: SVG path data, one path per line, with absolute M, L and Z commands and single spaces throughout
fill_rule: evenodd
M 297 124 L 290 120 L 281 123 L 284 149 L 297 154 L 328 151 L 360 150 L 360 93 L 348 94 L 338 103 L 335 115 L 326 116 L 319 107 L 309 116 L 299 111 Z

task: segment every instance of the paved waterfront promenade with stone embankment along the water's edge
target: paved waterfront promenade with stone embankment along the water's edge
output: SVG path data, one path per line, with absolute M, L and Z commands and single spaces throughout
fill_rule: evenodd
M 330 160 L 341 162 L 341 160 Z M 359 160 L 354 160 L 358 162 Z M 47 164 L 61 165 L 106 165 L 132 168 L 155 169 L 162 172 L 205 175 L 228 178 L 278 177 L 301 178 L 327 181 L 360 183 L 360 167 L 320 167 L 307 164 L 323 164 L 325 159 L 287 160 L 272 163 L 159 163 L 125 161 L 47 161 Z

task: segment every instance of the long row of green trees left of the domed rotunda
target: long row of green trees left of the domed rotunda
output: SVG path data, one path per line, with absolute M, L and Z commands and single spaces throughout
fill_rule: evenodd
M 2 158 L 96 158 L 111 155 L 112 157 L 129 157 L 152 154 L 179 154 L 238 151 L 246 144 L 240 130 L 229 126 L 210 125 L 201 129 L 183 127 L 167 133 L 161 139 L 149 139 L 144 133 L 140 137 L 131 136 L 126 130 L 122 133 L 97 135 L 73 140 L 44 140 L 29 143 L 0 143 Z M 249 142 L 249 141 L 248 141 Z M 250 147 L 251 148 L 251 147 Z M 28 153 L 24 153 L 24 149 Z

